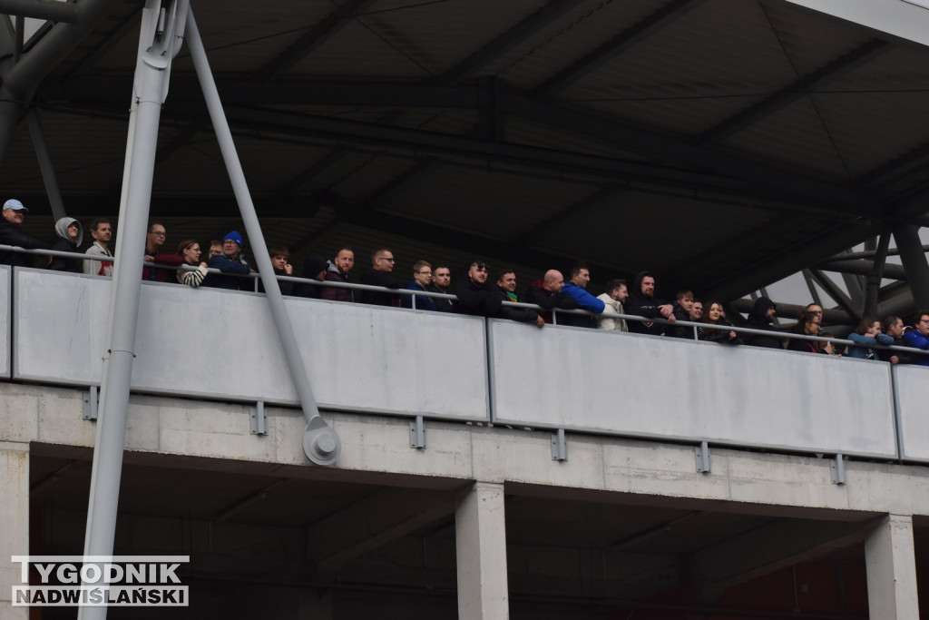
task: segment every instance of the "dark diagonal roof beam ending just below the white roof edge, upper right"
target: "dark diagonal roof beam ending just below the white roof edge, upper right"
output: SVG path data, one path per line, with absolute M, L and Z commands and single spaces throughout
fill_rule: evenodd
M 798 99 L 803 99 L 810 91 L 826 86 L 831 81 L 842 77 L 866 64 L 871 59 L 881 56 L 884 52 L 893 49 L 893 45 L 882 39 L 871 39 L 868 43 L 853 49 L 839 59 L 832 60 L 824 67 L 809 73 L 789 86 L 785 86 L 775 94 L 765 97 L 747 110 L 727 118 L 700 135 L 695 140 L 701 146 L 709 146 L 720 142 L 733 134 L 739 133 L 745 127 L 757 123 L 765 116 L 785 108 Z

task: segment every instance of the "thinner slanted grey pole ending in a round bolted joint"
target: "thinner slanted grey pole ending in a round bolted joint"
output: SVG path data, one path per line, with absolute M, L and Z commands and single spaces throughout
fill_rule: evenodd
M 193 66 L 197 72 L 197 78 L 200 80 L 200 86 L 203 88 L 203 98 L 206 99 L 206 107 L 210 112 L 210 120 L 213 123 L 216 140 L 219 142 L 219 149 L 223 153 L 223 160 L 229 170 L 232 191 L 235 192 L 236 201 L 242 211 L 242 222 L 245 224 L 249 243 L 252 244 L 255 252 L 255 263 L 258 266 L 261 282 L 265 286 L 268 304 L 274 316 L 274 324 L 277 326 L 278 336 L 281 338 L 281 347 L 284 356 L 287 358 L 291 377 L 294 380 L 294 387 L 303 407 L 303 415 L 307 418 L 303 450 L 307 458 L 317 465 L 331 465 L 342 451 L 342 442 L 335 431 L 320 416 L 316 398 L 309 386 L 307 370 L 304 367 L 303 358 L 300 357 L 300 350 L 296 346 L 294 329 L 287 316 L 287 309 L 284 308 L 281 288 L 274 277 L 274 269 L 271 266 L 271 259 L 268 257 L 268 246 L 261 234 L 261 225 L 258 223 L 258 216 L 255 214 L 255 204 L 252 203 L 252 195 L 248 190 L 245 173 L 242 171 L 242 163 L 239 161 L 235 143 L 232 141 L 232 132 L 229 130 L 229 123 L 226 120 L 225 112 L 223 112 L 222 102 L 219 100 L 216 82 L 213 79 L 213 73 L 210 71 L 210 63 L 206 59 L 203 40 L 201 40 L 200 32 L 197 30 L 197 22 L 193 18 L 193 10 L 189 10 L 187 43 L 190 57 L 193 59 Z

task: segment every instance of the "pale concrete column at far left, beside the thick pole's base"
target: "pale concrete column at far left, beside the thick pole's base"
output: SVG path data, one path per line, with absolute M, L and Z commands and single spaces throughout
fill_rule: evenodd
M 20 564 L 10 556 L 29 555 L 29 444 L 0 442 L 0 618 L 28 620 L 29 607 L 13 607 Z

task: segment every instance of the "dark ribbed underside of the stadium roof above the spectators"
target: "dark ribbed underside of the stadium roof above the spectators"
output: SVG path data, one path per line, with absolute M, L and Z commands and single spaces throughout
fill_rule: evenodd
M 115 216 L 142 6 L 77 7 L 102 19 L 32 105 L 69 215 Z M 792 2 L 193 10 L 268 243 L 298 257 L 389 244 L 403 272 L 479 256 L 532 277 L 582 257 L 599 283 L 648 269 L 732 298 L 929 210 L 929 50 Z M 3 163 L 4 193 L 45 211 L 25 122 Z M 186 49 L 153 192 L 171 241 L 237 225 Z

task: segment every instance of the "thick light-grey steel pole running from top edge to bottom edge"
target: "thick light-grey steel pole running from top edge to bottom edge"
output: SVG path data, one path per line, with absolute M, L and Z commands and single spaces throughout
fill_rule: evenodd
M 138 297 L 142 256 L 155 167 L 158 123 L 167 96 L 171 60 L 180 49 L 187 17 L 187 0 L 175 0 L 166 13 L 160 0 L 147 0 L 139 33 L 129 136 L 131 169 L 120 205 L 123 241 L 111 285 L 108 334 L 109 363 L 97 423 L 90 499 L 87 508 L 85 555 L 110 556 L 116 531 L 119 486 L 123 473 L 126 410 L 135 358 Z M 119 277 L 122 274 L 122 277 Z M 104 620 L 106 607 L 81 607 L 80 620 Z

